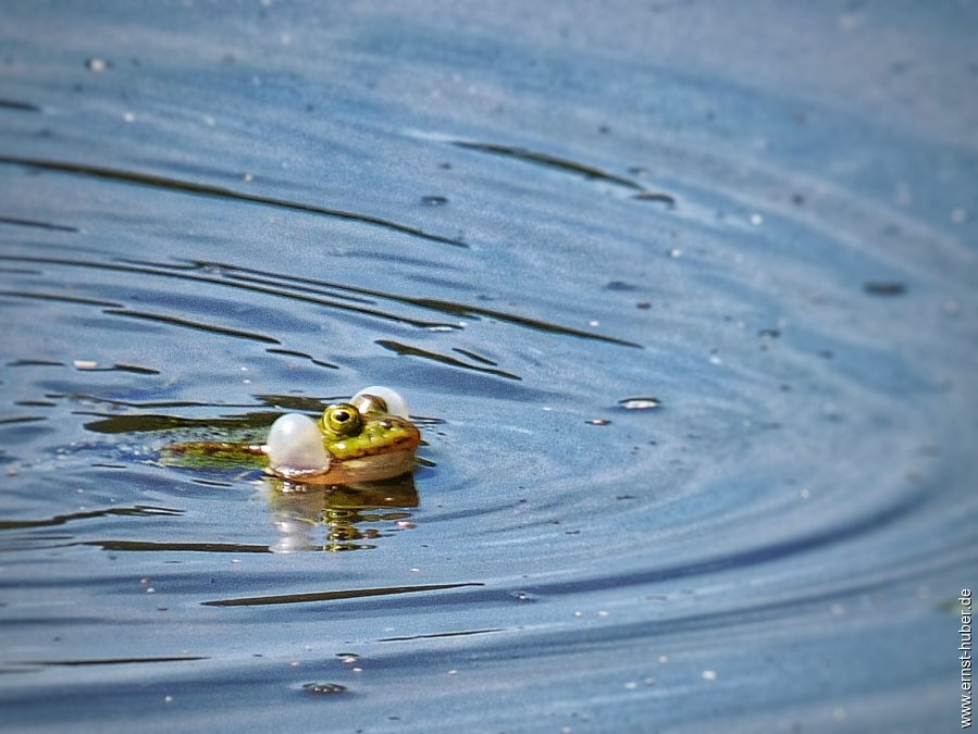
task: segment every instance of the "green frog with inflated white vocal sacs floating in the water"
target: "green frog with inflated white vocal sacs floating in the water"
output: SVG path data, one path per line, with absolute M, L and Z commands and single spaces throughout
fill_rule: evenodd
M 302 413 L 278 416 L 264 444 L 190 441 L 168 453 L 179 463 L 257 463 L 294 484 L 351 485 L 409 474 L 420 443 L 404 398 L 372 385 L 327 406 L 318 421 Z

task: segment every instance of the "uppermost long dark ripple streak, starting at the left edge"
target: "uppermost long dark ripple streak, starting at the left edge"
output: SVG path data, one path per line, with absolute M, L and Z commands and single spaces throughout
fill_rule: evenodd
M 326 207 L 317 207 L 314 204 L 301 203 L 298 201 L 289 201 L 288 199 L 276 199 L 273 197 L 263 197 L 255 194 L 245 194 L 231 188 L 221 186 L 210 186 L 207 184 L 197 184 L 190 181 L 179 178 L 166 178 L 164 176 L 154 176 L 148 173 L 138 173 L 135 171 L 121 171 L 116 169 L 106 169 L 98 165 L 86 165 L 84 163 L 67 163 L 64 161 L 47 161 L 42 159 L 15 158 L 10 155 L 0 157 L 0 163 L 11 165 L 23 165 L 30 169 L 41 171 L 57 171 L 59 173 L 71 173 L 81 176 L 90 176 L 94 178 L 103 178 L 107 181 L 121 182 L 125 184 L 135 184 L 137 186 L 149 186 L 151 188 L 164 189 L 168 191 L 176 191 L 183 194 L 194 194 L 198 196 L 215 197 L 219 199 L 232 199 L 235 201 L 248 201 L 250 203 L 264 204 L 268 207 L 278 207 L 281 209 L 290 209 L 294 211 L 307 212 L 310 214 L 322 214 L 336 219 L 360 222 L 361 224 L 370 224 L 385 229 L 392 229 L 421 239 L 433 242 L 443 242 L 455 247 L 468 247 L 462 241 L 442 235 L 434 235 L 417 227 L 405 224 L 398 224 L 391 220 L 384 220 L 380 216 L 371 216 L 369 214 L 358 214 L 342 209 L 330 209 Z

